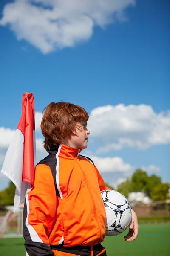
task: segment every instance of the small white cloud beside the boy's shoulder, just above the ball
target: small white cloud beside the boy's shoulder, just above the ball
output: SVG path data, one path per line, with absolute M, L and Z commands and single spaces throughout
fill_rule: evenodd
M 90 157 L 96 165 L 99 172 L 131 172 L 133 166 L 124 163 L 121 157 Z

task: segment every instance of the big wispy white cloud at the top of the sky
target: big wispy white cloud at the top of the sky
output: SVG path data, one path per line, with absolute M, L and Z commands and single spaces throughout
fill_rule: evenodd
M 43 53 L 73 47 L 93 35 L 94 26 L 126 21 L 135 0 L 15 0 L 3 9 L 1 26 Z

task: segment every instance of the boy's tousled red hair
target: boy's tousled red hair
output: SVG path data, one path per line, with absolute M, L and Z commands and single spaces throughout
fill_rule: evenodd
M 44 108 L 41 121 L 46 151 L 74 135 L 77 122 L 83 121 L 88 121 L 88 113 L 84 108 L 68 102 L 51 102 Z

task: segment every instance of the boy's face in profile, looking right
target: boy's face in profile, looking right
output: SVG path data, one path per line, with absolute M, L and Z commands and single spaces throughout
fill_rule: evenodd
M 85 149 L 88 146 L 88 135 L 90 131 L 87 129 L 87 121 L 78 122 L 74 131 L 76 135 L 72 135 L 65 140 L 65 144 L 78 149 Z

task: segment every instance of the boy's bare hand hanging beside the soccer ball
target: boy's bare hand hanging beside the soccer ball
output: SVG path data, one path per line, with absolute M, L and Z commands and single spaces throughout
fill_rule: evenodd
M 124 236 L 125 241 L 131 242 L 136 239 L 138 236 L 138 230 L 139 230 L 139 225 L 138 225 L 138 218 L 136 213 L 132 209 L 132 218 L 129 224 L 129 233 Z

